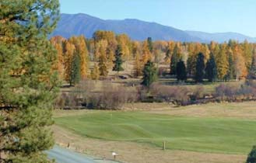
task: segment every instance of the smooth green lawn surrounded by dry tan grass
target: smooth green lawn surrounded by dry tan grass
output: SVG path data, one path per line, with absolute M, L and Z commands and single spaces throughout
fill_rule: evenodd
M 256 121 L 191 118 L 142 112 L 96 112 L 55 118 L 76 134 L 104 140 L 136 141 L 168 149 L 247 154 L 256 144 Z

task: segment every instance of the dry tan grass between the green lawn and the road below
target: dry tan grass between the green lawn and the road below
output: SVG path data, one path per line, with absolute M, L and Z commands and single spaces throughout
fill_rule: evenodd
M 53 126 L 54 137 L 57 144 L 82 151 L 95 157 L 112 159 L 111 152 L 117 154 L 117 161 L 130 163 L 240 163 L 244 162 L 246 155 L 235 154 L 209 154 L 194 151 L 163 151 L 148 144 L 121 142 L 110 140 L 96 140 L 80 137 L 61 127 Z

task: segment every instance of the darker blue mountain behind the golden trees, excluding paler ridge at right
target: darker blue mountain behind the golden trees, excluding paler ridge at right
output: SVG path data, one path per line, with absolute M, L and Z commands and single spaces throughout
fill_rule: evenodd
M 111 30 L 115 33 L 127 33 L 133 40 L 145 40 L 148 36 L 153 40 L 199 41 L 196 36 L 190 36 L 180 29 L 162 26 L 157 23 L 147 23 L 138 19 L 103 20 L 86 14 L 61 14 L 57 29 L 51 36 L 61 35 L 66 38 L 72 35 L 93 36 L 96 30 Z

